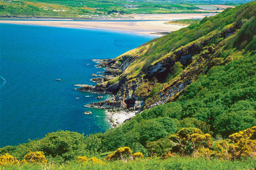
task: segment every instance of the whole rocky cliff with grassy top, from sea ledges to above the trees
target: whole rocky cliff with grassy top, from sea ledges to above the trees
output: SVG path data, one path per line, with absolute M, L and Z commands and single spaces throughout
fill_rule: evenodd
M 112 100 L 89 104 L 97 108 L 143 110 L 174 101 L 199 75 L 232 61 L 235 53 L 254 44 L 255 30 L 243 32 L 246 26 L 255 28 L 255 1 L 205 17 L 116 59 L 98 61 L 106 67 L 104 82 L 79 90 L 114 95 Z M 241 41 L 241 36 L 251 38 Z M 228 48 L 232 53 L 226 53 Z

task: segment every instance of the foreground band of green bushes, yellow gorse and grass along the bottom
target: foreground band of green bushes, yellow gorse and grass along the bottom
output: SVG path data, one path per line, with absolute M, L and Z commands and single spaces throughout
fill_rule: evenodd
M 141 152 L 133 153 L 129 147 L 100 154 L 93 151 L 95 140 L 91 137 L 69 131 L 49 133 L 42 140 L 1 149 L 0 166 L 4 169 L 252 169 L 256 165 L 256 126 L 218 141 L 212 141 L 210 134 L 203 134 L 200 129 L 183 128 L 168 138 L 148 142 L 149 158 L 143 158 Z

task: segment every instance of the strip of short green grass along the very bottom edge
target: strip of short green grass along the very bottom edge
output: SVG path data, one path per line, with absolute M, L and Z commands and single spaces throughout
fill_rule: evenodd
M 72 161 L 65 164 L 48 162 L 42 164 L 20 164 L 9 165 L 3 169 L 254 169 L 255 160 L 226 161 L 226 160 L 207 160 L 204 158 L 173 157 L 162 160 L 160 158 L 143 158 L 134 161 L 122 162 L 116 160 L 104 164 L 87 164 Z

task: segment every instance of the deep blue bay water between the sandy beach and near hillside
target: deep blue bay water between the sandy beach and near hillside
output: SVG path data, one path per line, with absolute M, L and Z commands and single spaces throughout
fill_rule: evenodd
M 104 111 L 84 107 L 100 101 L 95 99 L 98 95 L 75 91 L 73 85 L 95 85 L 89 79 L 103 69 L 95 68 L 91 59 L 117 57 L 153 39 L 72 28 L 0 28 L 0 147 L 57 130 L 90 134 L 109 129 Z

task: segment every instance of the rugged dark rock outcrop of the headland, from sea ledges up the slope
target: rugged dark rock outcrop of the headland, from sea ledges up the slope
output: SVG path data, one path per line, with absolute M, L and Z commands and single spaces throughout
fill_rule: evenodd
M 225 63 L 224 60 L 212 57 L 217 51 L 209 44 L 214 37 L 219 36 L 225 39 L 235 31 L 236 28 L 230 26 L 222 32 L 211 32 L 205 37 L 166 53 L 157 61 L 151 60 L 151 64 L 147 64 L 147 61 L 143 59 L 147 60 L 145 56 L 157 40 L 131 50 L 116 59 L 94 60 L 98 63 L 98 67 L 104 67 L 103 77 L 91 79 L 93 82 L 98 82 L 96 86 L 83 85 L 78 90 L 114 95 L 111 100 L 86 105 L 93 108 L 141 111 L 174 101 L 192 81 L 196 81 L 201 73 L 207 73 L 212 66 Z M 143 66 L 140 66 L 141 62 Z M 181 64 L 183 71 L 172 77 L 177 62 Z M 136 70 L 140 71 L 136 72 Z M 145 92 L 140 93 L 142 89 L 140 87 L 146 89 Z

